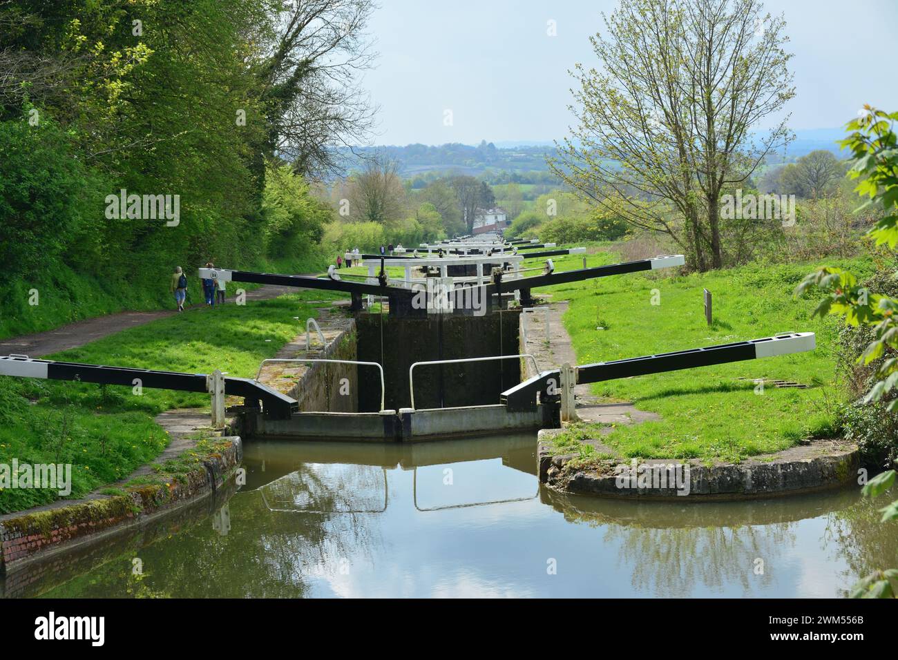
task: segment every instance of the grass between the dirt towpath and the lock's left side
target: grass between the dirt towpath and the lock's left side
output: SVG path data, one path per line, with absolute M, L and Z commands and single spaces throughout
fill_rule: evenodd
M 315 316 L 310 300 L 340 297 L 304 291 L 246 306 L 189 310 L 124 330 L 49 359 L 205 374 L 216 368 L 255 376 Z M 294 317 L 299 317 L 296 320 Z M 60 383 L 0 376 L 0 463 L 72 463 L 80 497 L 154 460 L 168 444 L 154 416 L 166 409 L 208 407 L 206 394 Z M 53 501 L 55 491 L 0 490 L 0 512 Z

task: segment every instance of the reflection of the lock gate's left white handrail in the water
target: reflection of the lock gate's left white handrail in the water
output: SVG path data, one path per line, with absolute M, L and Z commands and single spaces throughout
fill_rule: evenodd
M 304 463 L 258 490 L 269 511 L 327 515 L 380 514 L 390 495 L 385 468 L 341 463 Z

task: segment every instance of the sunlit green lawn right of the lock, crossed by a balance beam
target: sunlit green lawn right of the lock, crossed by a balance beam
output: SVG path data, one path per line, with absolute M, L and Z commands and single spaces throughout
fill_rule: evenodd
M 583 255 L 555 260 L 556 271 L 582 267 Z M 617 261 L 616 255 L 589 255 L 587 264 Z M 536 265 L 537 260 L 525 262 Z M 872 273 L 867 260 L 828 260 L 858 277 Z M 578 364 L 616 360 L 757 339 L 786 331 L 813 331 L 810 353 L 707 366 L 665 374 L 595 383 L 593 392 L 609 400 L 633 401 L 658 413 L 661 421 L 616 427 L 607 443 L 628 457 L 702 458 L 738 461 L 779 451 L 806 437 L 832 436 L 836 323 L 810 318 L 814 297 L 792 292 L 818 264 L 749 265 L 743 268 L 670 277 L 633 274 L 540 289 L 553 301 L 569 300 L 564 317 Z M 714 324 L 708 327 L 702 289 L 714 296 Z M 653 305 L 653 290 L 660 304 Z M 604 330 L 596 330 L 602 327 Z M 750 380 L 739 380 L 740 378 Z M 753 379 L 797 381 L 807 390 L 769 385 L 755 393 Z

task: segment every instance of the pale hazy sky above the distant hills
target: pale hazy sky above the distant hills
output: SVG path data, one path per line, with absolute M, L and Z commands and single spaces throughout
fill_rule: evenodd
M 617 0 L 380 0 L 380 52 L 364 86 L 381 106 L 378 145 L 559 138 L 577 62 Z M 898 110 L 898 0 L 769 0 L 784 13 L 797 96 L 791 128 L 837 128 L 864 102 Z M 557 36 L 547 34 L 549 21 Z M 876 62 L 884 63 L 873 66 Z M 453 126 L 444 125 L 452 110 Z

